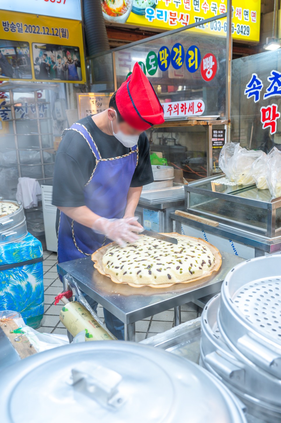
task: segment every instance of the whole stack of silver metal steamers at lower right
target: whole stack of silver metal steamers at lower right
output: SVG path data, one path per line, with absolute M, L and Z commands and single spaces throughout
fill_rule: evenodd
M 281 256 L 245 261 L 205 306 L 201 365 L 235 393 L 249 414 L 281 421 Z

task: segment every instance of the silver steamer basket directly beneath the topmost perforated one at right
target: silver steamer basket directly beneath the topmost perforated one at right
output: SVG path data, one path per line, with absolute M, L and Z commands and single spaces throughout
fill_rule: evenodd
M 257 401 L 266 401 L 273 407 L 280 407 L 281 380 L 257 367 L 246 357 L 243 361 L 240 360 L 224 342 L 217 324 L 219 302 L 220 295 L 216 295 L 210 299 L 202 313 L 202 361 L 213 368 L 233 389 L 241 390 Z

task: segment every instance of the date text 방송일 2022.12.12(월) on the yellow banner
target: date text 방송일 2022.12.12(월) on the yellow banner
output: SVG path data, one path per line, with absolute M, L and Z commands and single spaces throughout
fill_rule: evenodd
M 53 37 L 67 38 L 69 36 L 68 28 L 50 28 L 39 25 L 27 25 L 20 22 L 8 22 L 2 21 L 2 26 L 5 32 L 12 33 L 28 33 L 28 34 L 38 34 L 38 35 L 50 35 Z

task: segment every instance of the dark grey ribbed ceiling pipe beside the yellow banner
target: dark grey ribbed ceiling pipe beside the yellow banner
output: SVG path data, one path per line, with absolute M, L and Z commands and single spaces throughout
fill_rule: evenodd
M 83 0 L 82 3 L 87 55 L 109 50 L 100 0 Z

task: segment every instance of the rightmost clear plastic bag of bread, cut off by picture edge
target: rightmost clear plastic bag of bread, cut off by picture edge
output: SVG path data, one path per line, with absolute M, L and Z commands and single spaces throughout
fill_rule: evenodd
M 268 153 L 266 181 L 271 197 L 281 197 L 281 151 L 276 147 Z

